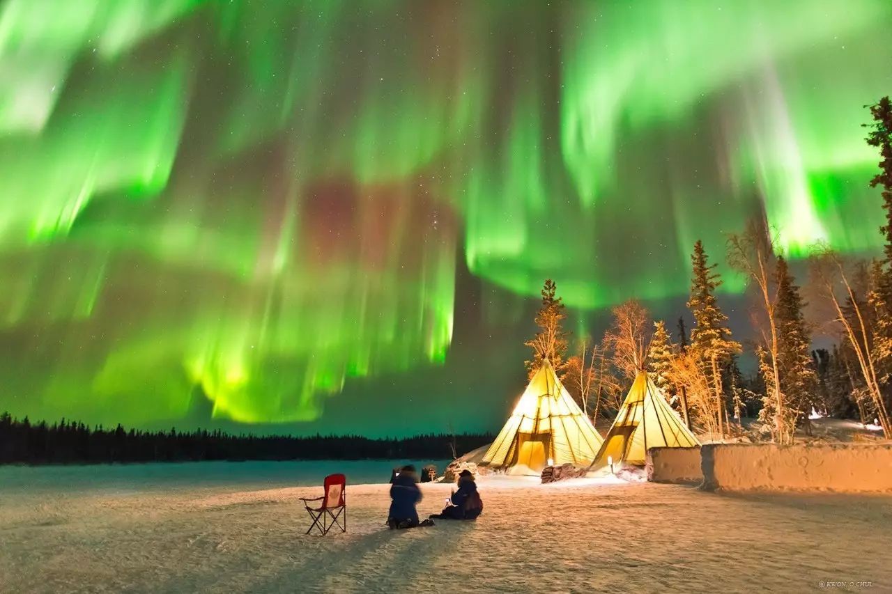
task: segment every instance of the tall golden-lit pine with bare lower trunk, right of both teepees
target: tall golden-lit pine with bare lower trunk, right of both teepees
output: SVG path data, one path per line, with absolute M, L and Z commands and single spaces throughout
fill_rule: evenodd
M 694 243 L 694 253 L 690 256 L 693 265 L 690 283 L 688 308 L 694 315 L 694 328 L 690 331 L 691 351 L 697 355 L 712 384 L 715 394 L 715 415 L 719 433 L 724 434 L 727 411 L 724 403 L 721 368 L 731 353 L 739 352 L 738 342 L 731 340 L 731 330 L 725 326 L 728 317 L 719 309 L 715 290 L 722 285 L 721 277 L 715 272 L 715 264 L 709 264 L 703 243 Z

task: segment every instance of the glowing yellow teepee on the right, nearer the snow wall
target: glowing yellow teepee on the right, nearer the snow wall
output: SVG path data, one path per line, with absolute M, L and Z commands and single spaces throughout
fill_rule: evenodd
M 639 371 L 590 470 L 625 462 L 644 466 L 648 448 L 687 448 L 700 445 L 648 374 Z

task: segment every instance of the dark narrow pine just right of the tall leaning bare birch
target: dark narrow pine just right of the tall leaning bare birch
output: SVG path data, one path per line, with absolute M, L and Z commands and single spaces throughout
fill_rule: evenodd
M 792 441 L 798 417 L 807 423 L 814 394 L 817 390 L 817 375 L 812 365 L 812 337 L 802 314 L 804 303 L 799 287 L 790 274 L 787 260 L 779 255 L 775 264 L 777 284 L 777 306 L 774 309 L 778 327 L 778 367 L 780 392 L 785 395 L 785 410 L 774 410 L 784 417 L 783 427 L 788 433 L 783 442 Z M 776 407 L 773 407 L 776 408 Z M 810 430 L 809 425 L 806 428 Z M 809 431 L 810 432 L 810 431 Z

